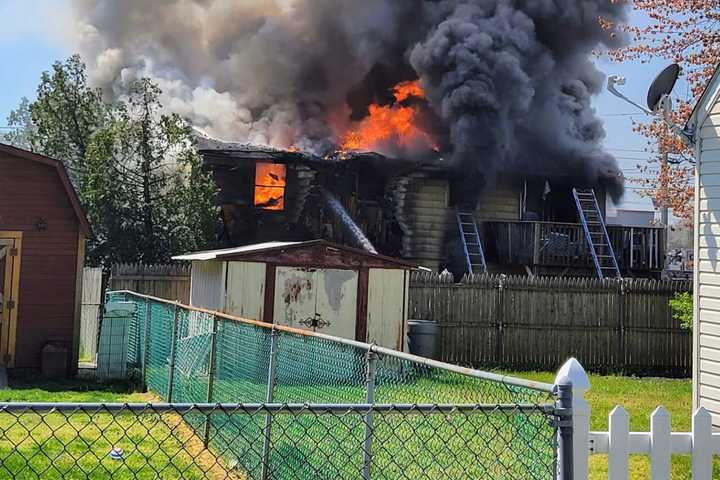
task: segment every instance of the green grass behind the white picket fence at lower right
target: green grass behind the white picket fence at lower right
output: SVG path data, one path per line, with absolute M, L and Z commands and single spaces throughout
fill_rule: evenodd
M 515 373 L 532 380 L 550 382 L 551 373 Z M 623 405 L 630 414 L 630 431 L 649 432 L 650 414 L 658 405 L 670 412 L 672 431 L 691 431 L 692 382 L 657 378 L 590 375 L 587 400 L 592 408 L 590 429 L 607 431 L 608 414 L 616 405 Z M 630 478 L 650 478 L 650 461 L 647 456 L 630 458 Z M 594 455 L 590 459 L 590 479 L 607 478 L 607 456 Z M 690 456 L 675 455 L 672 461 L 673 480 L 690 479 Z M 715 460 L 713 478 L 720 478 L 720 461 Z

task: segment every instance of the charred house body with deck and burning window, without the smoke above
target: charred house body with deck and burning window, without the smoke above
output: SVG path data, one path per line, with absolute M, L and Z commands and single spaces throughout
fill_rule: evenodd
M 456 275 L 473 268 L 458 212 L 471 214 L 477 225 L 488 271 L 594 275 L 573 189 L 592 189 L 604 217 L 614 188 L 571 176 L 507 175 L 468 207 L 454 192 L 463 179 L 439 156 L 411 161 L 354 151 L 319 157 L 207 138 L 200 151 L 220 189 L 228 245 L 323 238 Z M 659 274 L 662 228 L 613 225 L 607 231 L 623 275 Z

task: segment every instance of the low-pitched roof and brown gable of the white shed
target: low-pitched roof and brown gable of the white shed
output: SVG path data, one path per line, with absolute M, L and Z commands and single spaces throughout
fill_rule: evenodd
M 366 265 L 385 268 L 417 268 L 416 264 L 406 260 L 366 252 L 365 250 L 347 247 L 345 245 L 328 242 L 327 240 L 258 243 L 243 247 L 178 255 L 173 257 L 173 260 L 244 260 L 277 264 L 302 264 L 312 267 L 315 266 L 315 262 L 320 264 L 318 266 L 322 266 L 323 257 L 327 256 L 343 257 L 348 260 L 347 266 Z

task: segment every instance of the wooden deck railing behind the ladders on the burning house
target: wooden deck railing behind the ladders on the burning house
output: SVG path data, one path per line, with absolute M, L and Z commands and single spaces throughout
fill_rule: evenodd
M 663 267 L 664 230 L 609 225 L 608 235 L 623 271 Z M 500 265 L 592 268 L 579 223 L 487 222 L 483 242 L 488 261 Z

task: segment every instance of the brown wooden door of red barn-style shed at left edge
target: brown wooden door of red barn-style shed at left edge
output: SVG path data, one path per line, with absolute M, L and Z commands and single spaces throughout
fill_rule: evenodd
M 12 366 L 15 356 L 20 234 L 0 232 L 0 365 Z

